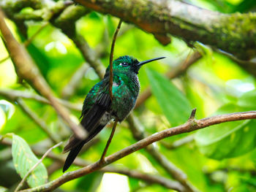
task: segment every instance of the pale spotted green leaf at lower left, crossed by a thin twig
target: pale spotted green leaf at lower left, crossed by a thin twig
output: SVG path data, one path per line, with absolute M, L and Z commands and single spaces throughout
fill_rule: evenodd
M 12 136 L 12 158 L 15 169 L 18 174 L 20 174 L 21 178 L 23 178 L 26 173 L 29 172 L 31 167 L 39 161 L 26 141 L 15 134 Z M 47 180 L 47 170 L 44 164 L 40 163 L 37 168 L 29 174 L 26 181 L 31 188 L 34 188 L 46 183 Z

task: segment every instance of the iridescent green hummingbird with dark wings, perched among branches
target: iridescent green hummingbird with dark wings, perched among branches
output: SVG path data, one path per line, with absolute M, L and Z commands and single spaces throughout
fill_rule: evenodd
M 88 136 L 81 140 L 72 135 L 64 147 L 64 153 L 69 151 L 63 166 L 65 172 L 83 145 L 94 138 L 112 119 L 121 122 L 135 107 L 140 92 L 138 72 L 140 67 L 151 61 L 165 57 L 138 61 L 129 55 L 124 55 L 113 61 L 112 99 L 109 94 L 110 66 L 106 69 L 104 78 L 91 88 L 83 101 L 80 125 L 86 129 Z

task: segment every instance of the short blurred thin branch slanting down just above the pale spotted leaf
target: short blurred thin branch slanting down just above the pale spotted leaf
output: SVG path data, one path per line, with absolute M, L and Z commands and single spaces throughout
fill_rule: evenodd
M 22 99 L 17 99 L 16 101 L 20 106 L 21 110 L 23 110 L 23 112 L 25 112 L 26 115 L 28 115 L 29 118 L 31 118 L 34 123 L 39 126 L 39 128 L 42 128 L 42 131 L 45 131 L 45 133 L 48 135 L 53 143 L 59 143 L 59 137 L 56 137 L 56 135 L 50 131 L 44 120 L 40 119 L 35 112 L 32 112 Z

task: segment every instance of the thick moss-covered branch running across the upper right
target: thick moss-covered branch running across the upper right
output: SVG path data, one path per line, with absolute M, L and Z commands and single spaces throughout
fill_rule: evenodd
M 188 43 L 199 41 L 240 58 L 252 58 L 256 54 L 256 13 L 226 15 L 177 0 L 75 1 L 135 23 L 155 36 L 172 34 Z

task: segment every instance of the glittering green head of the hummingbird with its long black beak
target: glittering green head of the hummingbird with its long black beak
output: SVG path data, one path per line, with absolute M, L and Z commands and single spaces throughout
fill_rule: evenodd
M 143 64 L 147 64 L 151 61 L 156 61 L 162 58 L 165 58 L 165 57 L 152 58 L 152 59 L 140 62 L 138 61 L 137 58 L 124 55 L 117 58 L 115 61 L 113 61 L 113 72 L 121 72 L 121 73 L 135 72 L 136 74 L 138 74 L 140 67 L 143 66 Z M 109 72 L 109 66 L 108 66 L 107 72 Z

